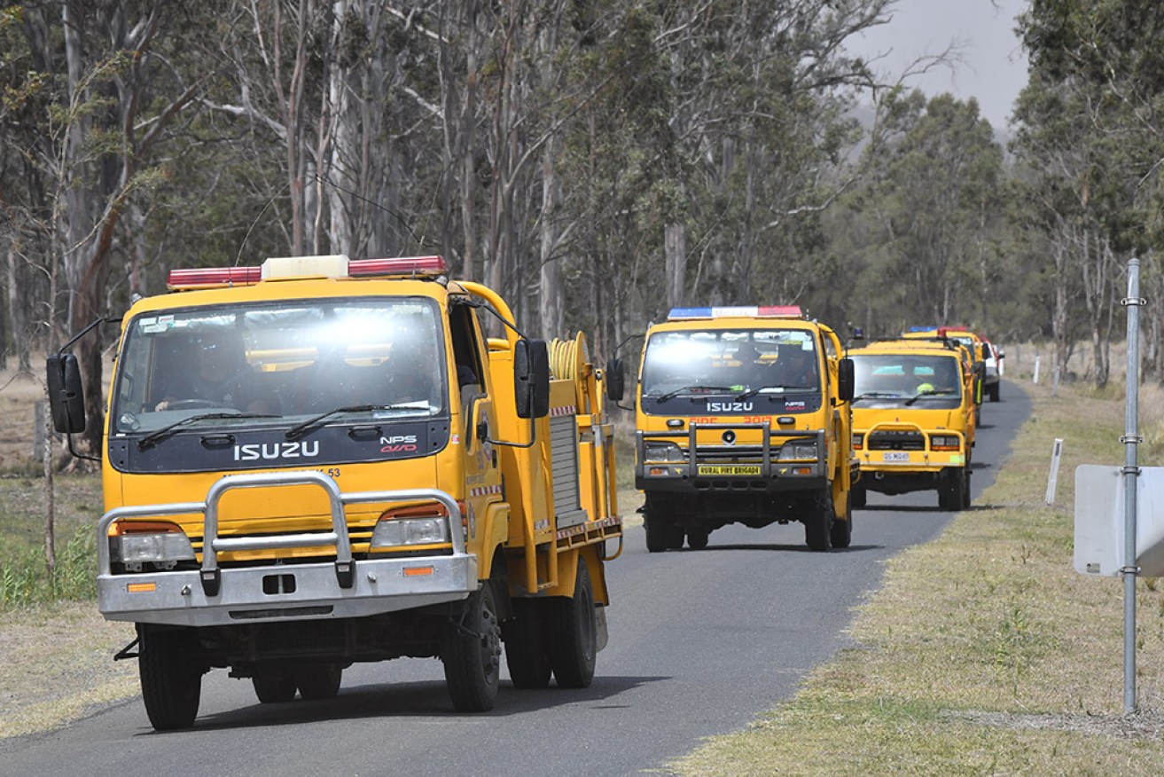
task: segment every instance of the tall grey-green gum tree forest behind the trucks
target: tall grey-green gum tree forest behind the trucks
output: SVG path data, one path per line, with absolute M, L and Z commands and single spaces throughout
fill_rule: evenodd
M 1164 298 L 1164 5 L 1032 0 L 1006 147 L 846 51 L 893 5 L 0 0 L 0 366 L 175 267 L 442 254 L 602 359 L 672 306 L 799 304 L 1090 344 L 1106 384 L 1130 257 Z M 76 346 L 91 445 L 113 337 Z

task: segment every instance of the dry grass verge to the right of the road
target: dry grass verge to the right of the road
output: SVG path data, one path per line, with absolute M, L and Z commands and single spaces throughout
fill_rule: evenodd
M 1122 393 L 1028 391 L 1032 417 L 995 483 L 937 541 L 887 564 L 883 587 L 857 610 L 853 645 L 790 702 L 710 739 L 673 763 L 675 772 L 1164 770 L 1164 585 L 1137 582 L 1138 711 L 1127 715 L 1122 581 L 1072 566 L 1074 468 L 1123 462 Z M 1145 437 L 1148 465 L 1159 446 Z M 1063 462 L 1046 506 L 1055 438 L 1064 439 Z

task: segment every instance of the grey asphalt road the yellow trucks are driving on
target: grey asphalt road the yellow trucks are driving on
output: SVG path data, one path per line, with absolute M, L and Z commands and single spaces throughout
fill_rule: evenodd
M 1018 387 L 986 403 L 977 502 L 1030 415 Z M 973 509 L 973 508 L 971 508 Z M 846 644 L 851 608 L 882 564 L 936 536 L 937 495 L 870 493 L 846 550 L 812 553 L 800 524 L 711 535 L 704 551 L 648 555 L 627 529 L 608 566 L 610 644 L 591 687 L 518 691 L 503 676 L 491 713 L 453 711 L 436 661 L 359 664 L 329 701 L 260 705 L 249 680 L 203 680 L 194 728 L 155 733 L 141 700 L 52 734 L 0 742 L 0 775 L 637 775 L 702 737 L 738 730 L 788 699 Z M 504 670 L 503 670 L 504 671 Z

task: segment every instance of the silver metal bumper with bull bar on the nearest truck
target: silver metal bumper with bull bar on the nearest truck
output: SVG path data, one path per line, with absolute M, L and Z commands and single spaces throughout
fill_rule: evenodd
M 235 488 L 317 485 L 332 507 L 332 531 L 291 536 L 219 537 L 218 503 Z M 440 502 L 447 511 L 452 553 L 407 558 L 352 558 L 345 506 L 368 502 Z M 127 517 L 201 513 L 200 568 L 113 574 L 108 529 Z M 205 502 L 118 508 L 98 522 L 98 606 L 109 620 L 175 626 L 227 626 L 256 621 L 357 617 L 464 599 L 477 587 L 477 559 L 464 549 L 456 501 L 438 489 L 341 494 L 335 481 L 312 472 L 253 473 L 215 481 Z M 332 544 L 335 560 L 220 568 L 218 553 Z

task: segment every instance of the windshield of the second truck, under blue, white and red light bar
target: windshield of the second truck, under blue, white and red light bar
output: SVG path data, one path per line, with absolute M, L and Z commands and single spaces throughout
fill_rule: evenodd
M 658 405 L 709 395 L 776 401 L 821 393 L 819 358 L 803 330 L 656 332 L 643 361 L 641 396 Z M 659 408 L 661 409 L 661 408 Z M 677 409 L 676 409 L 677 411 Z

